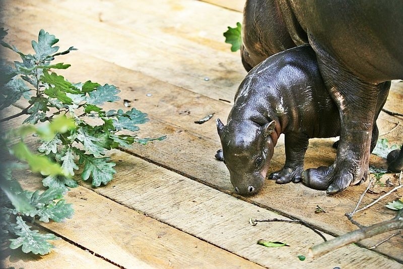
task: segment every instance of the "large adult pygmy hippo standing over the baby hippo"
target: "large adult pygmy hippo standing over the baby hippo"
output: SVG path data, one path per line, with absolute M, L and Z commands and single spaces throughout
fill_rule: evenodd
M 335 161 L 304 171 L 305 185 L 332 194 L 367 177 L 379 84 L 403 78 L 401 14 L 400 1 L 246 1 L 241 47 L 245 69 L 309 43 L 340 113 Z M 402 170 L 403 146 L 388 161 L 389 170 Z

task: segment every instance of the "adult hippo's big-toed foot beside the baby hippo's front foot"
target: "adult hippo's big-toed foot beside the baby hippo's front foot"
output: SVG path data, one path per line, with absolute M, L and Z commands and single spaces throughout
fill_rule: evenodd
M 353 174 L 346 168 L 334 169 L 333 166 L 321 166 L 305 170 L 301 177 L 307 187 L 316 190 L 326 190 L 327 194 L 334 194 L 345 190 L 350 184 L 361 183 L 366 179 L 367 173 L 358 181 L 353 181 Z

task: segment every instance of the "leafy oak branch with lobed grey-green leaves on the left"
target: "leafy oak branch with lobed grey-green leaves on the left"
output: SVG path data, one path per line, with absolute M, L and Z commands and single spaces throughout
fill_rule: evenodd
M 22 246 L 24 252 L 45 254 L 52 248 L 47 241 L 56 237 L 31 230 L 22 216 L 38 217 L 43 222 L 62 222 L 72 218 L 72 204 L 66 203 L 63 197 L 69 188 L 78 186 L 72 177 L 79 165 L 82 166 L 82 180 L 91 179 L 92 185 L 97 187 L 105 185 L 116 173 L 115 163 L 105 156 L 107 150 L 163 140 L 165 136 L 138 138 L 127 133 L 119 134 L 119 131 L 140 130 L 138 125 L 149 121 L 147 114 L 135 108 L 126 112 L 105 111 L 101 105 L 120 99 L 117 96 L 120 90 L 116 86 L 100 85 L 90 80 L 72 83 L 56 74 L 54 70 L 67 69 L 70 65 L 52 61 L 76 48 L 58 52 L 58 39 L 42 29 L 38 41 L 31 42 L 35 54 L 26 55 L 5 42 L 6 35 L 7 31 L 0 28 L 0 45 L 18 53 L 21 62 L 14 62 L 14 66 L 3 60 L 0 62 L 0 109 L 21 98 L 27 99 L 29 105 L 21 113 L 7 118 L 25 115 L 23 126 L 9 130 L 5 135 L 7 140 L 0 139 L 0 149 L 4 145 L 8 150 L 1 152 L 2 155 L 10 156 L 10 160 L 0 164 L 6 171 L 4 176 L 0 175 L 0 198 L 7 197 L 7 206 L 0 208 L 1 213 L 7 215 L 7 221 L 0 223 L 0 235 L 14 235 L 10 239 L 11 248 Z M 42 124 L 37 126 L 37 123 Z M 38 136 L 41 143 L 35 153 L 25 142 L 25 138 L 32 134 Z M 42 183 L 48 189 L 44 192 L 23 190 L 13 178 L 12 171 L 26 169 L 26 166 L 16 162 L 15 158 L 26 163 L 31 172 L 45 176 Z

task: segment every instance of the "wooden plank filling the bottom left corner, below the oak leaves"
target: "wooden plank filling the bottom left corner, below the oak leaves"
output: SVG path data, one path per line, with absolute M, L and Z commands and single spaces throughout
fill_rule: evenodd
M 43 229 L 35 228 L 42 231 Z M 0 265 L 3 268 L 118 268 L 112 263 L 62 239 L 54 240 L 55 248 L 47 255 L 26 254 L 18 249 L 1 249 Z M 2 263 L 3 262 L 3 263 Z

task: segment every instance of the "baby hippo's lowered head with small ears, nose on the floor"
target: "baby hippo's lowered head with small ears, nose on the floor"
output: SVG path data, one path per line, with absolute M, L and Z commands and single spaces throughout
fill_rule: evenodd
M 230 172 L 235 191 L 242 195 L 261 189 L 268 165 L 273 157 L 271 133 L 276 122 L 263 126 L 250 121 L 229 121 L 227 126 L 217 119 L 217 131 L 223 147 L 224 163 Z

